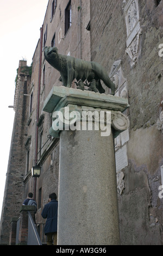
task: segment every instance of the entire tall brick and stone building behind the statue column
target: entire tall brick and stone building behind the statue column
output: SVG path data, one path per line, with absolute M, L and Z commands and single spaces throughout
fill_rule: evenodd
M 38 204 L 38 229 L 48 194 L 58 194 L 59 139 L 48 137 L 51 115 L 42 111 L 52 87 L 62 85 L 43 54 L 43 47 L 55 45 L 59 53 L 102 64 L 116 95 L 129 99 L 129 130 L 115 139 L 121 245 L 162 245 L 162 8 L 156 0 L 49 0 L 32 75 L 18 70 L 2 244 L 8 244 L 10 218 L 19 216 L 28 192 Z M 33 160 L 42 167 L 37 179 Z

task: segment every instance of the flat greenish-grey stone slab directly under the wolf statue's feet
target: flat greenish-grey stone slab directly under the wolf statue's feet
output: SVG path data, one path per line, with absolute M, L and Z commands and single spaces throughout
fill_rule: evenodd
M 99 94 L 87 90 L 55 86 L 47 96 L 43 105 L 43 111 L 52 113 L 60 110 L 67 104 L 74 104 L 93 108 L 113 109 L 124 111 L 129 107 L 128 100 L 122 97 Z

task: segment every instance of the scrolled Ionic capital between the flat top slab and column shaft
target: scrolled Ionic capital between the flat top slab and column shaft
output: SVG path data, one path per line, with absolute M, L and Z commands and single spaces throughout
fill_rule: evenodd
M 54 111 L 52 120 L 49 132 L 53 137 L 59 137 L 62 130 L 93 130 L 93 123 L 95 130 L 105 130 L 107 126 L 111 131 L 112 127 L 115 137 L 129 127 L 129 119 L 120 111 L 77 105 L 68 105 Z

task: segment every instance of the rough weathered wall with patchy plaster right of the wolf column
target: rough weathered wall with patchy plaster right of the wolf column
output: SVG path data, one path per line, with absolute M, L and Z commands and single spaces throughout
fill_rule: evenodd
M 118 195 L 122 245 L 162 244 L 162 200 L 159 198 L 162 133 L 155 127 L 162 101 L 162 1 L 138 1 L 139 57 L 132 65 L 126 54 L 125 6 L 129 1 L 91 1 L 91 59 L 108 74 L 122 60 L 130 104 L 128 166 L 122 169 L 124 191 Z M 99 29 L 99 27 L 101 29 Z

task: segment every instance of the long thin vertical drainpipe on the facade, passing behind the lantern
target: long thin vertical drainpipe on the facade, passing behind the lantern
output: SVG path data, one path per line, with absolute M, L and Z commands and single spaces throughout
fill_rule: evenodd
M 39 64 L 39 89 L 37 95 L 37 116 L 36 116 L 36 124 L 39 121 L 39 108 L 40 108 L 40 86 L 41 86 L 41 62 L 42 62 L 42 40 L 43 40 L 43 25 L 40 28 L 40 64 Z M 35 148 L 35 160 L 37 161 L 37 151 L 38 151 L 38 134 L 39 127 L 36 126 L 36 148 Z M 36 199 L 36 177 L 34 180 L 34 200 Z

